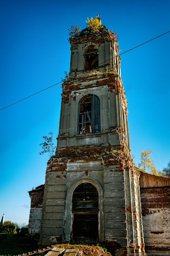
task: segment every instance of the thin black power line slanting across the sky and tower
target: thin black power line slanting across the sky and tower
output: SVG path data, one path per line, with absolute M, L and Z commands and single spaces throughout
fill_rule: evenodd
M 163 36 L 163 35 L 165 35 L 165 34 L 167 34 L 167 33 L 169 33 L 169 32 L 170 32 L 170 31 L 168 31 L 168 32 L 166 32 L 166 33 L 164 33 L 164 34 L 162 34 L 162 35 L 160 35 L 160 36 Z M 152 41 L 152 40 L 154 40 L 154 39 L 156 39 L 156 38 L 158 38 L 158 37 L 160 37 L 160 36 L 156 36 L 155 38 L 152 38 L 152 39 L 148 40 L 147 42 L 150 42 L 150 41 Z M 144 43 L 142 43 L 142 44 L 139 44 L 138 46 L 136 46 L 136 47 L 134 47 L 134 48 L 131 48 L 130 50 L 133 50 L 133 49 L 135 49 L 135 48 L 137 48 L 137 47 L 139 47 L 139 46 L 141 46 L 141 45 L 143 45 L 143 44 L 146 44 L 147 42 L 144 42 Z M 124 54 L 124 53 L 126 53 L 126 52 L 129 52 L 130 50 L 127 50 L 127 51 L 125 51 L 125 52 L 122 52 L 121 54 L 118 54 L 117 56 L 120 56 L 120 55 L 122 55 L 122 54 Z M 115 56 L 115 57 L 117 57 L 117 56 Z M 113 57 L 113 58 L 115 58 L 115 57 Z M 110 60 L 110 59 L 109 59 L 109 60 Z M 108 60 L 105 60 L 104 62 L 106 62 L 106 61 L 108 61 Z M 104 63 L 104 62 L 101 62 L 99 65 L 101 65 L 101 64 Z M 77 75 L 80 75 L 80 74 L 83 73 L 83 72 L 84 72 L 84 71 L 80 72 L 80 73 L 77 74 Z M 60 81 L 59 83 L 56 83 L 55 85 L 58 85 L 58 84 L 60 84 L 60 83 L 62 83 L 62 82 L 63 82 L 63 81 Z M 47 89 L 49 89 L 49 88 L 51 88 L 51 87 L 53 87 L 53 86 L 55 86 L 55 85 L 51 85 L 51 86 L 49 86 L 49 87 L 43 89 L 42 91 L 45 91 L 45 90 L 47 90 Z M 30 98 L 30 97 L 32 97 L 32 96 L 38 94 L 38 93 L 41 93 L 42 91 L 39 91 L 39 92 L 37 92 L 37 93 L 34 93 L 34 94 L 32 94 L 32 95 L 30 95 L 30 96 L 24 98 L 24 99 L 21 99 L 20 101 L 24 101 L 25 99 L 28 99 L 28 98 Z M 6 109 L 7 107 L 10 107 L 10 106 L 12 106 L 12 105 L 14 105 L 14 104 L 16 104 L 16 103 L 18 103 L 18 102 L 20 102 L 20 101 L 16 101 L 15 103 L 12 103 L 12 104 L 10 104 L 10 105 L 8 105 L 8 106 L 6 106 L 6 107 L 3 107 L 2 109 Z M 2 109 L 0 109 L 0 110 L 2 110 Z

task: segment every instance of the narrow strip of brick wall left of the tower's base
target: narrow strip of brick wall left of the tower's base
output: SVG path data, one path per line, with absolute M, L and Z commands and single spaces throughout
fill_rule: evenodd
M 44 185 L 41 185 L 39 189 L 29 191 L 31 198 L 30 218 L 28 224 L 29 235 L 34 239 L 39 240 L 40 226 L 42 220 L 42 205 L 43 205 Z

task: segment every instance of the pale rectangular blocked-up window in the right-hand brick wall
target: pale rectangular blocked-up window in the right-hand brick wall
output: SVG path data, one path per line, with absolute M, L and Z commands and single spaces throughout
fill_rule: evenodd
M 162 213 L 160 208 L 149 208 L 150 232 L 163 232 Z

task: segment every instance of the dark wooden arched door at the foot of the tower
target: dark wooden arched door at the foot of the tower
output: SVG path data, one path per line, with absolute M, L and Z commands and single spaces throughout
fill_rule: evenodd
M 99 240 L 99 195 L 91 183 L 76 187 L 72 198 L 73 242 L 94 244 Z

